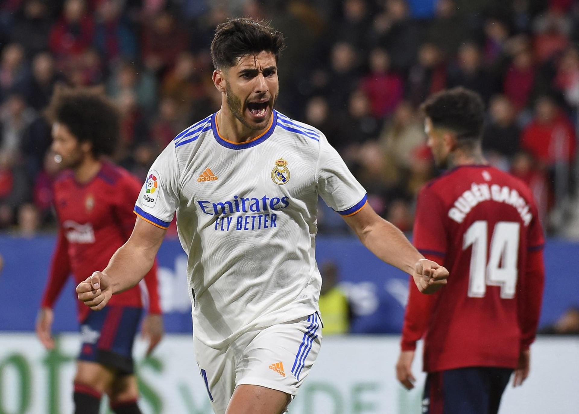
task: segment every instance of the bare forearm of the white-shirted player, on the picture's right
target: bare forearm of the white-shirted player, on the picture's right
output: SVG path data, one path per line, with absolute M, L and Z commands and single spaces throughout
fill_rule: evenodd
M 376 220 L 358 232 L 360 241 L 380 260 L 412 275 L 422 254 L 408 241 L 404 233 L 384 219 Z

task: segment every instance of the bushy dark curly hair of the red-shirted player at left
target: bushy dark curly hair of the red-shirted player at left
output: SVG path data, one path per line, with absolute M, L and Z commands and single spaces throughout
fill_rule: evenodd
M 46 113 L 51 122 L 65 125 L 80 142 L 90 142 L 94 157 L 115 152 L 120 135 L 120 114 L 99 91 L 59 87 Z

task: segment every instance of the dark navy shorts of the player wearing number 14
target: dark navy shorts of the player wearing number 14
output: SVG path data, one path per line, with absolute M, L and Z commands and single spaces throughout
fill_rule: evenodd
M 470 367 L 428 372 L 422 412 L 496 414 L 512 368 Z

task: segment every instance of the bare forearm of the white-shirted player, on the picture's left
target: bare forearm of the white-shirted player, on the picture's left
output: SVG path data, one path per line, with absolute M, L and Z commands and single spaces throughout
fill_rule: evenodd
M 135 286 L 151 270 L 155 254 L 135 246 L 130 241 L 124 243 L 111 257 L 102 271 L 109 277 L 112 293 L 120 293 Z

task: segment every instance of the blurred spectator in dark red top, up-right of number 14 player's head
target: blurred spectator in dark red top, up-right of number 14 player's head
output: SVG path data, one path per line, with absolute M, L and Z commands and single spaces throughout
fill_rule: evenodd
M 529 102 L 535 83 L 533 55 L 529 50 L 521 50 L 515 54 L 512 64 L 504 76 L 503 90 L 518 113 Z

